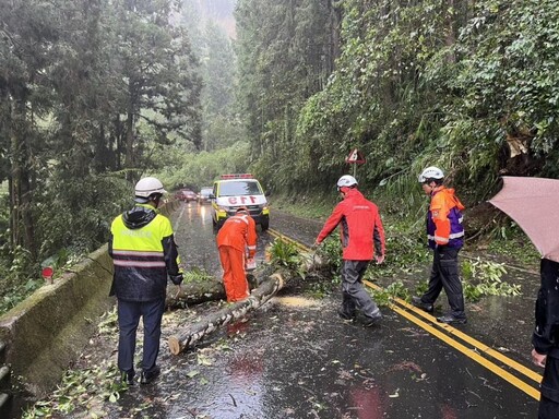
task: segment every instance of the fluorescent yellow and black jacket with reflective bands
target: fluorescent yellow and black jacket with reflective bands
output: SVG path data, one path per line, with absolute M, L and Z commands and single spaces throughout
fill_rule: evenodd
M 167 274 L 180 273 L 170 220 L 150 205 L 138 204 L 115 218 L 109 255 L 115 265 L 110 295 L 122 300 L 165 298 Z

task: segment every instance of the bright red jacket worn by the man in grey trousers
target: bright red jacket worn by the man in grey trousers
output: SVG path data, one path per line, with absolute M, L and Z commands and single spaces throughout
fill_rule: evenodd
M 384 228 L 379 208 L 357 189 L 349 189 L 336 205 L 317 237 L 321 243 L 340 225 L 340 237 L 347 261 L 371 261 L 384 254 Z

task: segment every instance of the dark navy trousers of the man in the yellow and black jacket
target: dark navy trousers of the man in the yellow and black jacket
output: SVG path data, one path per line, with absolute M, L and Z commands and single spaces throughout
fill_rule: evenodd
M 144 324 L 142 370 L 152 372 L 156 368 L 164 311 L 165 299 L 155 301 L 118 300 L 118 368 L 120 371 L 134 372 L 135 335 L 140 318 Z

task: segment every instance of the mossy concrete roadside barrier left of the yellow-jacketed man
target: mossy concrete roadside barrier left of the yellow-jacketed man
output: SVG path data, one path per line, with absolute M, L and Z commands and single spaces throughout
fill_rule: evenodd
M 108 296 L 111 280 L 105 246 L 0 318 L 4 362 L 25 393 L 41 397 L 60 382 L 94 334 L 97 318 L 115 303 Z

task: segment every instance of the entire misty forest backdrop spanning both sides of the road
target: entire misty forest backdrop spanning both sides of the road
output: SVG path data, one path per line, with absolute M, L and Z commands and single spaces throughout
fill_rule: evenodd
M 552 0 L 13 0 L 0 15 L 5 307 L 40 264 L 105 243 L 145 175 L 173 190 L 251 171 L 312 207 L 356 169 L 415 230 L 417 173 L 438 165 L 475 234 L 501 175 L 559 177 Z

